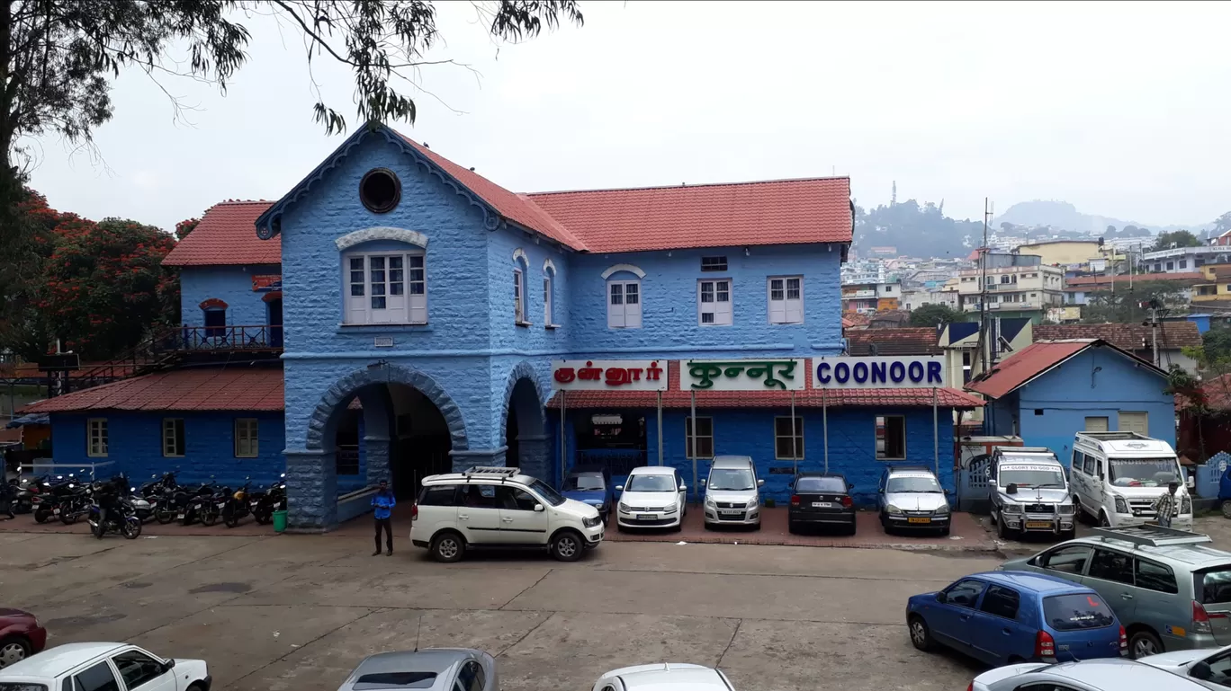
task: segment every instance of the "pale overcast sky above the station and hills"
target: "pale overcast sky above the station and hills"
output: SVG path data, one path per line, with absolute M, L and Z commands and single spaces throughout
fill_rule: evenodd
M 1231 209 L 1231 5 L 582 1 L 583 27 L 497 45 L 468 4 L 419 118 L 390 123 L 516 192 L 848 175 L 863 207 L 944 199 L 979 219 L 1029 199 L 1145 224 Z M 277 199 L 334 150 L 311 119 L 298 34 L 256 17 L 228 89 L 114 85 L 103 161 L 47 138 L 53 207 L 164 229 L 229 199 Z M 320 59 L 355 119 L 351 75 Z M 446 106 L 447 105 L 447 106 Z

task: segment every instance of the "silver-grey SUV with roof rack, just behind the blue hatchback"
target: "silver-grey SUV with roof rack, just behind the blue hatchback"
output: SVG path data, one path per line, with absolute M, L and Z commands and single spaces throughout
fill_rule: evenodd
M 1208 535 L 1139 525 L 1096 527 L 1000 568 L 1093 588 L 1112 606 L 1134 658 L 1231 644 L 1231 552 Z

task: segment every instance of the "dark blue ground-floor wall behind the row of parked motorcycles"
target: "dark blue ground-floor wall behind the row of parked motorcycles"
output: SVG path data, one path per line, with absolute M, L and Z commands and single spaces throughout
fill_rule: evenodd
M 235 457 L 235 418 L 257 418 L 257 457 Z M 107 457 L 86 455 L 86 421 L 107 419 Z M 162 419 L 182 418 L 185 455 L 162 456 Z M 281 413 L 167 412 L 165 414 L 107 411 L 91 414 L 52 413 L 52 449 L 57 464 L 111 461 L 100 468 L 110 477 L 124 472 L 134 484 L 151 475 L 175 471 L 181 483 L 206 482 L 211 476 L 238 487 L 252 477 L 254 487 L 266 487 L 284 470 Z M 71 472 L 65 468 L 62 472 Z

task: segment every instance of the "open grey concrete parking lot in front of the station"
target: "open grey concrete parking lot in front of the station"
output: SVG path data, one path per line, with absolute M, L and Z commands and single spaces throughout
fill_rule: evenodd
M 963 689 L 975 663 L 916 652 L 906 598 L 986 553 L 611 542 L 437 564 L 361 537 L 0 534 L 0 605 L 52 643 L 133 641 L 211 664 L 219 689 L 331 690 L 369 653 L 465 646 L 503 687 L 585 690 L 617 666 L 720 665 L 764 691 Z

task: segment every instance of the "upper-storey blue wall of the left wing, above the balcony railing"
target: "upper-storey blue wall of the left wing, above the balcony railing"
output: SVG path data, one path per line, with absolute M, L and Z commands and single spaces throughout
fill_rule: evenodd
M 268 323 L 265 293 L 252 291 L 252 277 L 277 274 L 278 264 L 251 267 L 182 267 L 180 272 L 180 314 L 182 323 L 206 323 L 201 302 L 217 298 L 227 302 L 228 326 L 261 326 Z

